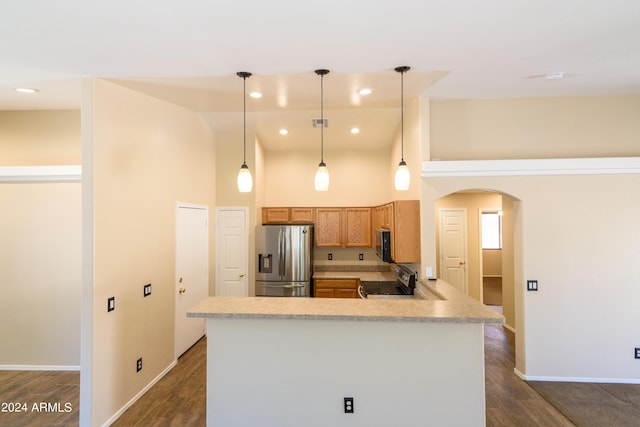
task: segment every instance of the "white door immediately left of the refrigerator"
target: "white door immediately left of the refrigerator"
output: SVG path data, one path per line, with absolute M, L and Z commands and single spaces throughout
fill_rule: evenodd
M 216 295 L 249 295 L 247 208 L 216 210 Z

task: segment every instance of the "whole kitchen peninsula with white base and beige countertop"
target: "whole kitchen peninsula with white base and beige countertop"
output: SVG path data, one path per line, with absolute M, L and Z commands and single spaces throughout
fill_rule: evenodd
M 207 425 L 484 425 L 483 325 L 503 318 L 442 281 L 418 291 L 439 299 L 202 301 Z

